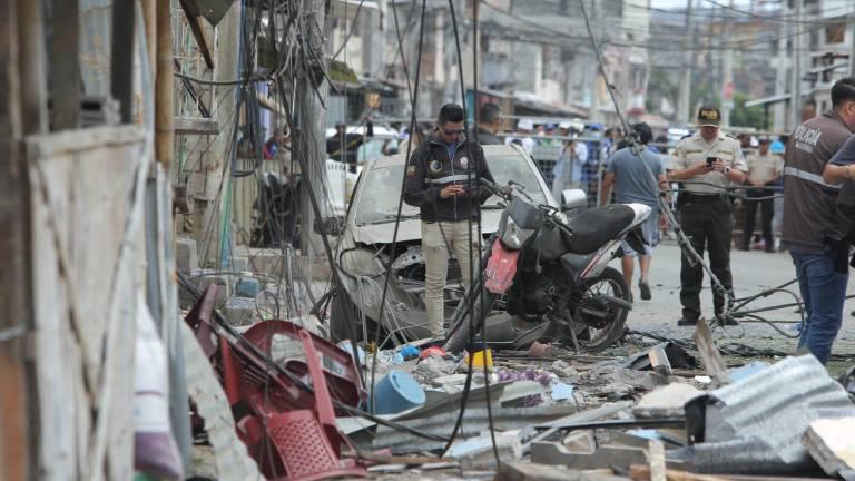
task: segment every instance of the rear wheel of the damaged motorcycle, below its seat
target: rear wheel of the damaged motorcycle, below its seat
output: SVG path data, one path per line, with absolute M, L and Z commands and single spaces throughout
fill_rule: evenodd
M 581 286 L 582 298 L 576 310 L 576 325 L 582 326 L 577 332 L 580 347 L 587 351 L 600 351 L 623 335 L 629 311 L 608 302 L 617 297 L 630 302 L 630 289 L 623 274 L 612 267 Z M 578 327 L 573 327 L 578 328 Z

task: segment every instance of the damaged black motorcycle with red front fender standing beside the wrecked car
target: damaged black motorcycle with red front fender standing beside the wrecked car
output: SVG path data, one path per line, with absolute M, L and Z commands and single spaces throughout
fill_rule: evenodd
M 558 208 L 532 202 L 519 184 L 501 187 L 480 180 L 507 205 L 485 245 L 481 275 L 458 304 L 443 347 L 464 350 L 493 308 L 523 324 L 514 326 L 520 334 L 513 345 L 524 344 L 521 337 L 547 338 L 597 351 L 620 338 L 632 308 L 631 292 L 608 264 L 622 254 L 622 240 L 643 248 L 640 225 L 650 207 L 612 204 L 564 220 Z M 566 208 L 587 203 L 583 190 L 563 196 Z

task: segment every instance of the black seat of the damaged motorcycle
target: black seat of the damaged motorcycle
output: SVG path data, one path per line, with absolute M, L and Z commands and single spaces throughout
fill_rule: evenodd
M 562 230 L 564 244 L 573 254 L 590 254 L 616 238 L 635 218 L 635 210 L 622 204 L 588 209 L 567 223 L 573 234 Z

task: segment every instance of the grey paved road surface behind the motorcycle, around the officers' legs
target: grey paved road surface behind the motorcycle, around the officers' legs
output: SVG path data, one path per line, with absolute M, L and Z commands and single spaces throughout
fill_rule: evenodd
M 616 266 L 619 268 L 619 264 Z M 767 254 L 763 251 L 734 251 L 731 268 L 737 297 L 757 294 L 795 277 L 793 263 L 787 253 Z M 636 273 L 638 273 L 638 268 L 636 268 Z M 706 276 L 704 283 L 701 304 L 704 315 L 709 318 L 712 316 L 712 294 L 709 291 L 709 279 Z M 680 252 L 676 243 L 660 244 L 656 249 L 650 272 L 652 301 L 640 301 L 637 279 L 633 284 L 636 307 L 627 322 L 630 328 L 669 337 L 691 336 L 694 332 L 691 327 L 677 326 L 677 320 L 680 317 Z M 796 286 L 794 285 L 793 288 Z M 855 281 L 849 282 L 848 293 L 855 294 Z M 794 302 L 792 296 L 775 294 L 751 303 L 750 308 L 792 302 Z M 849 315 L 853 310 L 855 310 L 855 300 L 847 301 L 844 310 L 843 330 L 833 352 L 855 357 L 855 317 Z M 770 320 L 798 321 L 799 318 L 792 307 L 770 312 L 766 315 Z M 779 324 L 779 326 L 787 333 L 795 334 L 792 324 Z M 792 352 L 796 346 L 796 341 L 782 336 L 766 324 L 744 323 L 741 326 L 728 327 L 727 332 L 718 331 L 716 335 L 725 341 L 733 340 L 756 347 L 774 347 L 785 352 Z

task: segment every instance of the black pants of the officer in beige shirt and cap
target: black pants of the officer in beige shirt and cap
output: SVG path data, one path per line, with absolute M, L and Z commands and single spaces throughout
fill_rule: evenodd
M 734 216 L 730 200 L 718 196 L 690 196 L 680 208 L 680 219 L 691 246 L 701 258 L 704 251 L 708 249 L 712 274 L 726 289 L 733 291 L 730 238 L 734 233 Z M 684 255 L 680 267 L 680 304 L 682 304 L 682 317 L 687 321 L 697 321 L 700 317 L 702 283 L 704 267 L 700 264 L 691 266 Z M 725 307 L 725 297 L 714 293 L 712 300 L 716 314 L 721 313 Z

